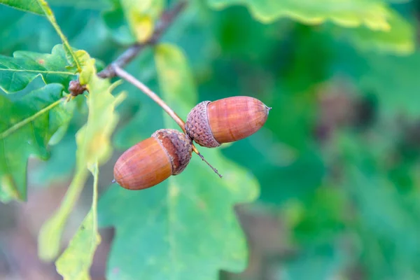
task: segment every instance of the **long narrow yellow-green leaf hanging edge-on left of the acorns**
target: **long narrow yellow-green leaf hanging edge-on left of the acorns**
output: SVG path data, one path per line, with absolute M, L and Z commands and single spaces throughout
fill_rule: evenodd
M 86 54 L 87 55 L 87 54 Z M 97 77 L 94 59 L 87 59 L 82 73 L 89 95 L 87 123 L 76 134 L 76 171 L 59 209 L 45 222 L 38 236 L 38 255 L 43 260 L 53 260 L 59 253 L 64 225 L 80 196 L 88 171 L 102 165 L 111 156 L 111 134 L 118 122 L 115 107 L 125 97 L 114 97 L 109 80 Z

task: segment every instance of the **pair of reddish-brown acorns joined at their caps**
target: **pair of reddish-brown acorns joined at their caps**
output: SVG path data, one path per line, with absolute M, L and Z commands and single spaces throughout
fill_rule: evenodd
M 193 153 L 193 140 L 215 148 L 257 132 L 267 120 L 269 107 L 253 97 L 228 97 L 201 102 L 190 111 L 186 134 L 158 130 L 129 148 L 117 160 L 114 179 L 130 190 L 150 188 L 183 172 Z

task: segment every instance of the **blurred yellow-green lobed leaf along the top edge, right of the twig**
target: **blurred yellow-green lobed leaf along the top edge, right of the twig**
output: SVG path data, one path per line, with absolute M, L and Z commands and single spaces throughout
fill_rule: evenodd
M 343 27 L 365 25 L 374 30 L 388 30 L 386 3 L 375 0 L 207 0 L 214 8 L 241 4 L 261 22 L 291 18 L 304 24 L 318 25 L 330 20 Z

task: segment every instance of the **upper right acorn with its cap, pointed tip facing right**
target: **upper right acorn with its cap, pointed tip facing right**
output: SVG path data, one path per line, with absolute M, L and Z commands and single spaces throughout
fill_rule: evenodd
M 187 117 L 186 133 L 200 146 L 215 148 L 257 132 L 271 108 L 253 97 L 228 97 L 204 101 Z

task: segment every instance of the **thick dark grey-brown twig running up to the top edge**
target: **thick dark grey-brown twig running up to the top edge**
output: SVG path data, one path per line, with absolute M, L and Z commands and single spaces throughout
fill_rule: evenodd
M 166 29 L 174 22 L 175 18 L 181 13 L 181 11 L 186 7 L 186 2 L 181 1 L 174 6 L 171 10 L 166 10 L 164 13 L 162 13 L 162 16 L 160 18 L 160 21 L 158 22 L 158 25 L 155 27 L 155 31 L 153 32 L 153 35 L 151 38 L 148 39 L 148 41 L 144 43 L 136 43 L 132 45 L 130 48 L 125 50 L 122 55 L 120 55 L 114 62 L 112 62 L 109 66 L 107 66 L 104 70 L 100 71 L 98 73 L 98 76 L 101 78 L 112 78 L 116 76 L 116 73 L 114 72 L 113 66 L 119 66 L 124 67 L 127 63 L 131 62 L 134 57 L 139 55 L 139 52 L 146 48 L 149 45 L 154 45 L 157 43 L 162 36 L 163 33 L 165 33 Z

